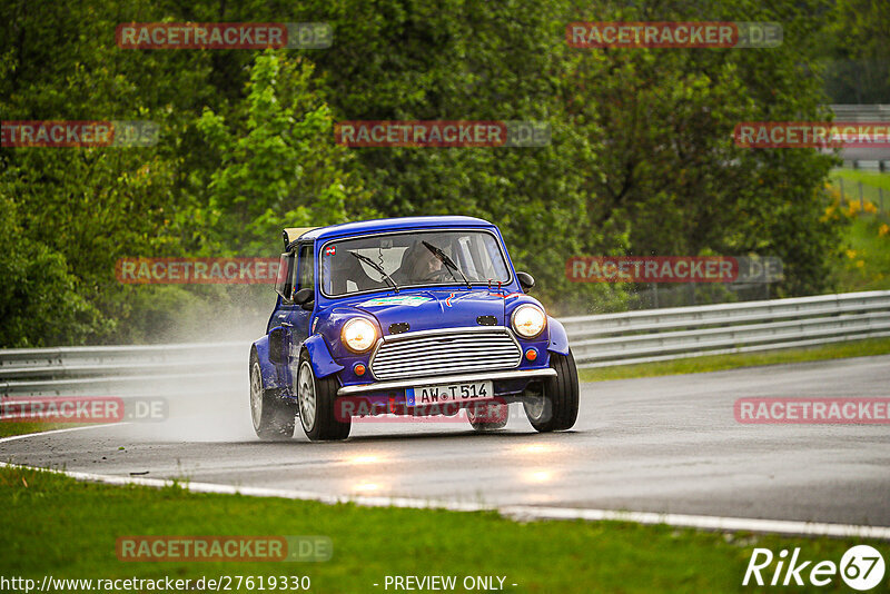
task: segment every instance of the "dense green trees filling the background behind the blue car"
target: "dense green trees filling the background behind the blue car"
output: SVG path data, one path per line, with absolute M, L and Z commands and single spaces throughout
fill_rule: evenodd
M 565 260 L 585 254 L 779 256 L 780 296 L 831 289 L 843 222 L 822 211 L 834 161 L 732 142 L 739 121 L 824 119 L 827 31 L 809 18 L 822 2 L 624 4 L 7 0 L 2 119 L 141 119 L 162 132 L 154 148 L 0 148 L 0 198 L 16 229 L 6 234 L 16 259 L 3 266 L 22 279 L 2 294 L 0 309 L 16 315 L 4 315 L 0 345 L 161 339 L 186 313 L 267 308 L 270 297 L 245 305 L 254 294 L 230 288 L 123 287 L 113 264 L 273 256 L 281 227 L 380 216 L 492 220 L 556 315 L 630 301 L 624 286 L 568 283 Z M 702 20 L 705 6 L 712 20 L 781 22 L 784 43 L 581 50 L 564 40 L 572 20 Z M 334 44 L 122 50 L 113 31 L 129 20 L 327 21 Z M 336 121 L 362 119 L 530 120 L 550 123 L 552 142 L 334 143 Z M 22 301 L 37 270 L 55 275 L 66 304 L 31 285 L 28 298 L 42 305 Z

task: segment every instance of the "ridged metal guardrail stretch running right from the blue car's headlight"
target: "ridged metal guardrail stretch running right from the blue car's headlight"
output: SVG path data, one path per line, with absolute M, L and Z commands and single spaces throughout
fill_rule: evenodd
M 890 291 L 563 318 L 581 367 L 890 336 Z

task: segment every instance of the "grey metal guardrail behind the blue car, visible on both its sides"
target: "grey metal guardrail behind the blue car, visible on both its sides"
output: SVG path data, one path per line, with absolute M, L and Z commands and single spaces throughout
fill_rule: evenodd
M 745 301 L 561 320 L 581 367 L 890 336 L 890 291 Z M 187 395 L 231 389 L 244 343 L 0 349 L 1 396 Z M 246 386 L 245 386 L 246 389 Z

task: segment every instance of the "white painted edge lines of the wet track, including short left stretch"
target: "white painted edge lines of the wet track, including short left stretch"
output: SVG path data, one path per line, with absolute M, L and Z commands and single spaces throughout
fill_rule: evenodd
M 119 426 L 119 423 L 115 423 Z M 14 435 L 0 438 L 0 443 L 36 437 L 53 433 L 83 430 L 111 425 L 93 425 L 89 427 L 73 427 L 56 429 L 28 435 Z M 719 532 L 756 532 L 774 533 L 790 536 L 831 536 L 879 538 L 890 541 L 890 526 L 864 526 L 857 524 L 830 524 L 821 522 L 794 522 L 788 519 L 756 519 L 745 517 L 698 516 L 685 514 L 656 514 L 651 512 L 617 512 L 612 509 L 585 509 L 575 507 L 538 507 L 534 505 L 506 505 L 492 506 L 476 503 L 461 503 L 436 499 L 418 499 L 414 497 L 368 497 L 352 495 L 328 495 L 312 491 L 293 491 L 264 487 L 248 487 L 235 485 L 220 485 L 215 483 L 179 482 L 168 478 L 142 478 L 138 476 L 115 476 L 93 473 L 78 473 L 51 468 L 33 468 L 19 464 L 0 462 L 0 467 L 42 469 L 63 474 L 77 481 L 105 483 L 107 485 L 141 485 L 147 487 L 168 487 L 174 484 L 194 493 L 218 493 L 222 495 L 247 495 L 251 497 L 280 497 L 285 499 L 315 501 L 326 504 L 353 503 L 368 507 L 409 507 L 416 509 L 448 509 L 453 512 L 497 512 L 505 517 L 518 521 L 532 519 L 585 519 L 589 522 L 617 521 L 634 522 L 637 524 L 664 524 L 681 528 L 695 528 Z

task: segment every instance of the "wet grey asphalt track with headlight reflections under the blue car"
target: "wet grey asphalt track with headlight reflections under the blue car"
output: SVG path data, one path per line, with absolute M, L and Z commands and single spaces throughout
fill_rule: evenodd
M 890 356 L 582 385 L 574 429 L 354 424 L 345 443 L 253 435 L 247 380 L 164 423 L 0 443 L 0 459 L 337 495 L 890 526 L 890 425 L 742 425 L 740 397 L 890 397 Z M 119 449 L 120 447 L 123 449 Z

